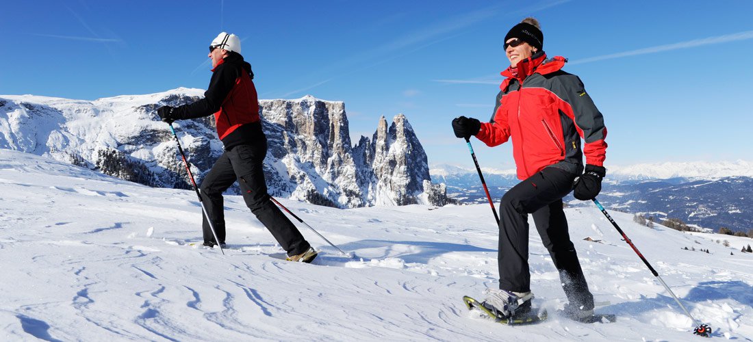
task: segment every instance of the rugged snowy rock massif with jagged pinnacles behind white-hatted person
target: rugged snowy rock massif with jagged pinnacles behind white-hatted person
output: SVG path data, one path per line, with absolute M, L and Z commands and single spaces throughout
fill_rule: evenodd
M 200 89 L 184 88 L 95 101 L 0 95 L 0 148 L 148 186 L 189 189 L 172 133 L 156 110 L 202 96 Z M 389 124 L 382 117 L 373 137 L 352 146 L 341 101 L 307 95 L 259 104 L 270 146 L 264 164 L 270 194 L 332 207 L 447 203 L 444 185 L 431 183 L 427 156 L 403 114 Z M 222 153 L 213 117 L 173 125 L 200 181 Z

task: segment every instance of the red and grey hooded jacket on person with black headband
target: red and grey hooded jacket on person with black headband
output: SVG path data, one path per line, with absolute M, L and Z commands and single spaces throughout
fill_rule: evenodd
M 603 166 L 607 129 L 578 76 L 562 71 L 567 60 L 542 51 L 501 72 L 497 104 L 476 135 L 489 147 L 512 138 L 517 177 L 524 180 L 547 166 L 573 174 L 586 163 Z M 581 138 L 585 141 L 581 150 Z

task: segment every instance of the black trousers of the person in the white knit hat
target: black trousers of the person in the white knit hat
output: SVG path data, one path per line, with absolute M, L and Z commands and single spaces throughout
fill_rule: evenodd
M 243 200 L 262 224 L 272 233 L 289 256 L 309 249 L 309 243 L 282 211 L 270 200 L 264 182 L 264 156 L 267 140 L 254 145 L 238 145 L 222 153 L 201 182 L 201 198 L 212 219 L 219 242 L 225 242 L 225 216 L 222 192 L 236 181 Z M 204 242 L 215 242 L 207 217 L 204 216 Z

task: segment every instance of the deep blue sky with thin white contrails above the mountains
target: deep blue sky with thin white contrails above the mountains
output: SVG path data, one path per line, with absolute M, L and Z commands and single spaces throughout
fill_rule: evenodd
M 536 17 L 608 128 L 607 167 L 753 160 L 753 1 L 9 2 L 0 94 L 95 99 L 206 89 L 207 47 L 239 35 L 260 98 L 344 101 L 351 136 L 404 113 L 431 164 L 472 167 L 450 121 L 489 120 L 502 40 Z M 482 166 L 510 146 L 471 140 Z M 506 144 L 507 145 L 507 144 Z

